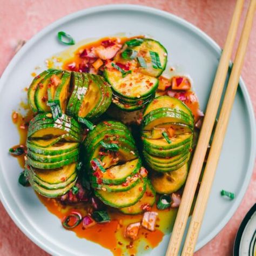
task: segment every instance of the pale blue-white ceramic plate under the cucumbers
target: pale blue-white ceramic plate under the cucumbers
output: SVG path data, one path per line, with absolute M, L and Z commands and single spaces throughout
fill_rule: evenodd
M 0 81 L 0 195 L 2 203 L 21 230 L 37 245 L 53 255 L 111 255 L 105 248 L 62 228 L 59 219 L 46 210 L 31 188 L 17 183 L 21 171 L 16 159 L 8 156 L 9 147 L 19 141 L 11 113 L 18 109 L 23 91 L 31 82 L 30 73 L 46 57 L 66 46 L 57 42 L 58 31 L 70 33 L 78 42 L 88 37 L 104 37 L 119 32 L 148 34 L 169 52 L 169 65 L 180 64 L 190 74 L 203 110 L 211 91 L 220 48 L 193 25 L 167 12 L 136 5 L 107 5 L 66 16 L 39 32 L 17 53 Z M 253 170 L 255 156 L 254 115 L 245 85 L 240 86 L 217 174 L 208 201 L 197 250 L 210 241 L 231 218 Z M 220 190 L 235 193 L 232 201 L 220 197 Z M 164 255 L 169 236 L 148 255 Z

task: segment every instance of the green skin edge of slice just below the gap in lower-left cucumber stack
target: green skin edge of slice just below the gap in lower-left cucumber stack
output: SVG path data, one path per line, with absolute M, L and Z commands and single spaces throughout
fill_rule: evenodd
M 69 149 L 49 150 L 48 149 L 49 147 L 40 147 L 40 146 L 33 144 L 33 140 L 27 140 L 27 142 L 26 142 L 26 145 L 31 152 L 34 152 L 37 154 L 44 154 L 44 155 L 48 155 L 48 156 L 55 156 L 56 154 L 63 154 L 63 153 L 67 153 L 67 152 L 70 152 L 75 149 L 79 149 L 78 143 L 73 143 L 73 144 L 74 145 L 72 147 L 70 147 Z

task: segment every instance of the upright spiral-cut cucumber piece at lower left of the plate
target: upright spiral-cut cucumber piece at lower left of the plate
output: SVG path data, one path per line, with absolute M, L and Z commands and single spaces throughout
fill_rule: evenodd
M 59 197 L 76 184 L 81 134 L 79 123 L 65 114 L 56 120 L 51 113 L 40 113 L 31 119 L 26 172 L 39 194 Z

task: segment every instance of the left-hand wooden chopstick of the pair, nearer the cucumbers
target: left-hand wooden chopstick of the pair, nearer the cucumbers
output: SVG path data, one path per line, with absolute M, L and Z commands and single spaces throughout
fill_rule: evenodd
M 196 192 L 199 176 L 205 159 L 207 146 L 210 141 L 213 125 L 217 115 L 221 94 L 223 92 L 225 79 L 228 71 L 228 65 L 234 46 L 235 35 L 237 34 L 243 4 L 244 0 L 238 0 L 235 4 L 230 29 L 228 30 L 224 50 L 221 55 L 219 66 L 213 82 L 211 95 L 206 108 L 204 122 L 201 127 L 197 147 L 194 152 L 194 156 L 190 166 L 190 172 L 188 173 L 187 181 L 185 184 L 183 196 L 181 198 L 178 214 L 174 223 L 166 256 L 176 256 L 179 252 L 181 239 L 183 238 L 188 215 L 190 213 L 192 201 L 194 198 L 194 193 Z

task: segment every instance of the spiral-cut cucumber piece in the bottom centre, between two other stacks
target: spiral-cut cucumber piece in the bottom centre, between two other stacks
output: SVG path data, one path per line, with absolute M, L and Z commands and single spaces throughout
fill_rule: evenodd
M 127 214 L 152 206 L 154 192 L 142 166 L 134 139 L 127 127 L 103 121 L 84 142 L 85 161 L 96 196 L 106 205 Z

